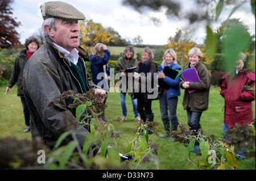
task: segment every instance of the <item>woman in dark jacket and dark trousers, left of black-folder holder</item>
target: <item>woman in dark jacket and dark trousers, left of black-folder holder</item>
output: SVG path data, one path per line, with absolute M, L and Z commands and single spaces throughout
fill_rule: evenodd
M 154 54 L 151 49 L 146 47 L 142 54 L 142 60 L 139 61 L 139 74 L 134 74 L 134 78 L 139 81 L 139 92 L 135 93 L 135 97 L 138 99 L 137 110 L 143 121 L 154 121 L 154 113 L 151 109 L 152 100 L 158 96 L 158 81 L 155 81 L 155 77 L 158 74 L 158 65 L 153 61 Z M 143 64 L 149 65 L 146 72 L 142 71 Z M 145 69 L 144 69 L 145 70 Z M 142 71 L 142 72 L 141 72 Z M 157 90 L 157 92 L 155 92 Z M 136 90 L 134 90 L 136 92 Z M 155 94 L 157 93 L 157 94 Z M 151 134 L 151 131 L 148 131 Z

